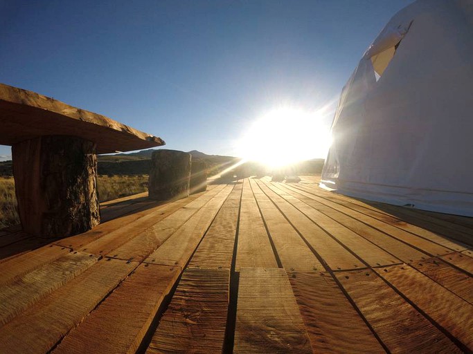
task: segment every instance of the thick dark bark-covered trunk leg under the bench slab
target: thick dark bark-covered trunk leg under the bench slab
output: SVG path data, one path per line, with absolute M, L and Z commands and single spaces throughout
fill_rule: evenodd
M 25 232 L 65 237 L 100 223 L 95 143 L 41 136 L 12 145 L 12 158 Z

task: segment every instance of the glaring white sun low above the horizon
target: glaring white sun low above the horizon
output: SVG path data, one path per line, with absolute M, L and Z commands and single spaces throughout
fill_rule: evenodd
M 330 133 L 320 113 L 296 109 L 271 111 L 251 124 L 238 141 L 244 160 L 277 168 L 312 158 L 325 158 Z

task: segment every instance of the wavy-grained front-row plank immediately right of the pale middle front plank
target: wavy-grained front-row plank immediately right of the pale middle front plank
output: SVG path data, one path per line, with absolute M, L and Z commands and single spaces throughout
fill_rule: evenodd
M 289 272 L 316 353 L 381 353 L 370 328 L 327 272 Z

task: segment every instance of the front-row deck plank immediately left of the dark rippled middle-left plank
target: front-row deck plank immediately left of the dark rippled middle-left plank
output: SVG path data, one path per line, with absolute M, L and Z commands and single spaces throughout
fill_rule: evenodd
M 53 353 L 135 353 L 179 269 L 139 265 Z

